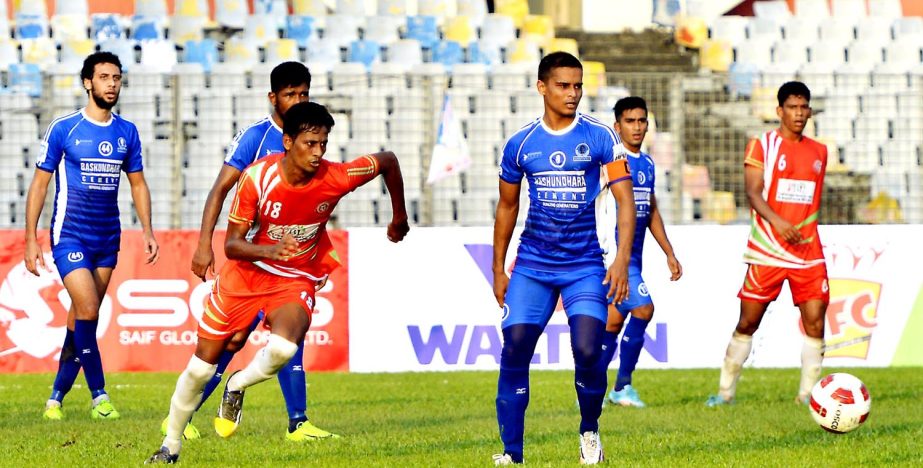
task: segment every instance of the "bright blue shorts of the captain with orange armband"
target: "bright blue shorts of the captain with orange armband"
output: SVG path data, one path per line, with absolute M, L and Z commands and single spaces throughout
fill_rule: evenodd
M 534 324 L 544 327 L 560 296 L 564 312 L 589 315 L 605 323 L 607 315 L 606 272 L 601 267 L 569 272 L 538 271 L 516 267 L 510 277 L 503 305 L 501 327 Z

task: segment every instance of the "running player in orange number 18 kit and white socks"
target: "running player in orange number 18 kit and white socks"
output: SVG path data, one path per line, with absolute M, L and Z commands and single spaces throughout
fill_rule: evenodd
M 167 436 L 149 462 L 178 459 L 183 429 L 215 373 L 219 355 L 260 310 L 266 311 L 264 324 L 271 334 L 247 367 L 228 379 L 215 418 L 219 435 L 228 437 L 236 430 L 244 390 L 274 376 L 295 354 L 311 324 L 315 286 L 339 265 L 326 226 L 340 198 L 381 174 L 391 194 L 388 239 L 400 242 L 407 234 L 397 157 L 386 151 L 342 164 L 325 161 L 333 123 L 320 104 L 292 106 L 283 123 L 285 153 L 244 169 L 224 244 L 228 261 L 205 301 L 195 355 L 177 380 Z

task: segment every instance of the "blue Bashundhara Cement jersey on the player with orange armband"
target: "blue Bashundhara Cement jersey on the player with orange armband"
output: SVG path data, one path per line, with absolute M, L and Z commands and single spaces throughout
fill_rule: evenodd
M 611 224 L 602 222 L 604 197 L 609 184 L 628 177 L 624 164 L 612 180 L 603 167 L 624 159 L 615 132 L 580 113 L 565 129 L 551 130 L 539 118 L 510 137 L 500 178 L 519 184 L 525 176 L 530 202 L 516 265 L 542 271 L 603 267 L 611 232 Z

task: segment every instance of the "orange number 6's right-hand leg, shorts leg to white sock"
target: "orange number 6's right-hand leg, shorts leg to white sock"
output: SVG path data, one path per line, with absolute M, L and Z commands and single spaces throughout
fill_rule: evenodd
M 789 276 L 792 299 L 801 311 L 804 344 L 801 347 L 801 382 L 795 401 L 804 403 L 820 379 L 824 360 L 824 321 L 830 288 L 826 265 L 794 270 Z

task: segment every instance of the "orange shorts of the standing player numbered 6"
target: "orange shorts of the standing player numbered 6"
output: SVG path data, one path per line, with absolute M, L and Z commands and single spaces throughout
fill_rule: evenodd
M 744 285 L 737 297 L 745 301 L 772 302 L 779 297 L 782 282 L 788 280 L 795 305 L 820 299 L 830 302 L 830 286 L 827 281 L 827 265 L 821 263 L 809 268 L 782 268 L 767 265 L 753 265 L 747 268 Z

